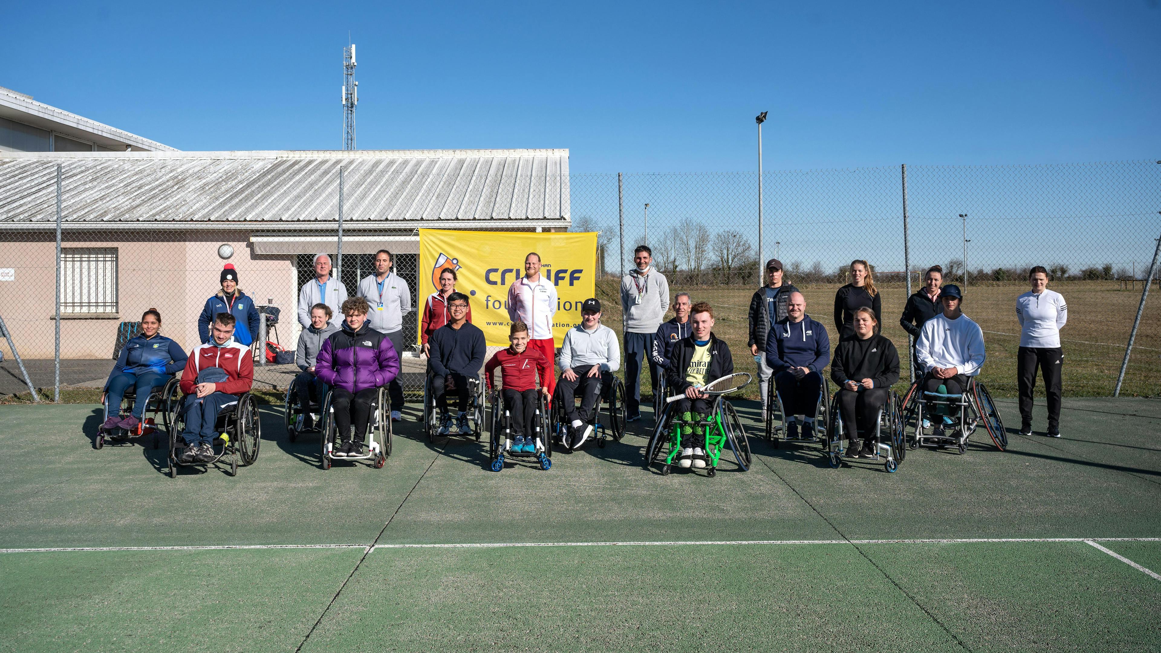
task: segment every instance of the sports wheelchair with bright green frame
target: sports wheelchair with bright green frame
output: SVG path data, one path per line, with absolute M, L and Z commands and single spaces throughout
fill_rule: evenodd
M 664 399 L 662 401 L 664 402 Z M 717 474 L 717 462 L 721 459 L 722 447 L 726 444 L 729 444 L 730 450 L 734 452 L 737 466 L 743 472 L 748 471 L 752 462 L 750 439 L 745 435 L 745 429 L 742 428 L 742 421 L 738 419 L 734 406 L 726 401 L 723 395 L 717 395 L 713 397 L 709 414 L 711 416 L 707 419 L 686 423 L 675 415 L 672 403 L 664 403 L 661 418 L 657 421 L 652 436 L 649 438 L 649 446 L 646 449 L 646 469 L 650 468 L 658 460 L 663 460 L 661 473 L 662 475 L 669 475 L 673 467 L 673 459 L 682 453 L 684 445 L 698 444 L 697 442 L 683 443 L 682 428 L 684 425 L 700 425 L 704 429 L 704 433 L 700 436 L 704 438 L 702 451 L 706 452 L 706 458 L 708 459 L 708 464 L 706 465 L 707 475 L 714 476 Z M 698 438 L 699 436 L 692 435 L 691 437 Z

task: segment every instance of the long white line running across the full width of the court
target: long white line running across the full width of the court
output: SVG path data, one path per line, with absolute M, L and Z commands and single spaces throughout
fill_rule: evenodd
M 60 546 L 38 548 L 0 548 L 0 553 L 56 553 L 65 551 L 222 551 L 231 548 L 505 548 L 521 546 L 709 546 L 709 545 L 779 545 L 779 544 L 987 544 L 1021 541 L 1161 541 L 1156 537 L 1060 537 L 1060 538 L 933 538 L 933 539 L 738 539 L 684 541 L 484 541 L 461 544 L 222 544 L 190 546 Z M 1101 548 L 1101 547 L 1098 547 Z M 1110 552 L 1110 554 L 1113 554 Z M 1115 554 L 1113 554 L 1115 555 Z

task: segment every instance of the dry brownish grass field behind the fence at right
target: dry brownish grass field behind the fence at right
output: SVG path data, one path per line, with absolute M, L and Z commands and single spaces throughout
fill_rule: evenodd
M 837 344 L 834 321 L 835 292 L 839 284 L 799 285 L 807 301 L 807 313 L 827 326 L 831 350 Z M 1111 396 L 1117 373 L 1125 354 L 1125 343 L 1141 299 L 1135 290 L 1122 290 L 1116 281 L 1074 281 L 1051 286 L 1068 301 L 1068 324 L 1061 330 L 1065 350 L 1065 396 Z M 620 332 L 621 311 L 615 281 L 601 282 L 597 295 L 605 309 L 604 323 Z M 907 332 L 899 317 L 907 303 L 902 285 L 881 286 L 882 332 L 895 343 L 904 368 L 901 386 L 907 385 Z M 917 289 L 917 288 L 916 288 Z M 747 311 L 755 288 L 738 286 L 670 287 L 672 293 L 686 290 L 693 301 L 708 301 L 715 308 L 715 328 L 734 353 L 740 372 L 756 372 L 745 343 L 749 333 Z M 1016 297 L 1026 292 L 1023 284 L 972 286 L 965 293 L 964 313 L 983 329 L 988 360 L 982 379 L 996 396 L 1016 396 L 1016 352 L 1019 349 L 1019 324 L 1016 322 Z M 666 315 L 666 320 L 673 315 Z M 828 372 L 829 374 L 829 368 Z M 1043 396 L 1037 382 L 1037 396 Z M 757 390 L 751 389 L 751 397 Z M 1146 304 L 1133 357 L 1125 373 L 1123 396 L 1161 395 L 1161 299 Z

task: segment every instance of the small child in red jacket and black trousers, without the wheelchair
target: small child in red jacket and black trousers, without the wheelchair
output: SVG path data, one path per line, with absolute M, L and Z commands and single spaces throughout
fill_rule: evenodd
M 503 369 L 504 409 L 512 415 L 512 443 L 504 442 L 504 449 L 514 453 L 536 453 L 545 445 L 533 437 L 532 419 L 536 415 L 536 374 L 540 374 L 540 392 L 548 394 L 548 379 L 553 378 L 551 365 L 539 350 L 528 349 L 528 325 L 517 321 L 509 333 L 512 346 L 500 350 L 484 365 L 488 388 L 495 387 L 492 375 Z M 511 445 L 511 449 L 510 449 Z

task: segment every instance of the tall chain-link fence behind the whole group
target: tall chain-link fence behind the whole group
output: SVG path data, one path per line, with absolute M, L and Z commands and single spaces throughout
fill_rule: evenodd
M 294 177 L 266 181 L 284 195 L 305 196 L 313 191 L 330 198 L 325 204 L 310 200 L 318 206 L 309 224 L 253 218 L 194 224 L 185 217 L 193 220 L 200 207 L 204 210 L 204 204 L 212 204 L 212 193 L 151 213 L 149 204 L 170 188 L 150 186 L 139 178 L 129 184 L 115 168 L 103 177 L 71 177 L 75 163 L 68 158 L 39 163 L 44 165 L 35 174 L 27 167 L 17 171 L 0 165 L 0 188 L 7 189 L 0 194 L 0 318 L 7 336 L 0 343 L 5 357 L 0 393 L 27 389 L 13 346 L 33 385 L 53 386 L 58 303 L 59 373 L 65 386 L 102 387 L 118 343 L 135 332 L 147 308 L 161 313 L 163 333 L 189 350 L 203 337 L 200 316 L 219 289 L 225 264 L 235 265 L 239 287 L 260 310 L 266 313 L 261 308 L 266 306 L 280 309 L 277 321 L 260 324 L 255 336 L 266 333 L 286 350 L 295 350 L 302 329 L 297 297 L 313 278 L 313 254 L 326 252 L 333 259 L 337 253 L 337 184 L 304 189 Z M 62 173 L 59 257 L 57 165 Z M 618 275 L 633 266 L 634 247 L 648 244 L 672 292 L 687 290 L 695 301 L 716 307 L 715 329 L 735 350 L 740 367 L 752 371 L 752 359 L 738 352 L 748 344 L 747 313 L 759 284 L 759 260 L 784 261 L 787 280 L 807 297 L 807 311 L 831 329 L 832 302 L 848 281 L 848 264 L 867 259 L 882 294 L 884 332 L 900 352 L 907 351 L 899 317 L 908 289 L 920 288 L 923 270 L 940 265 L 945 282 L 966 286 L 965 313 L 985 330 L 986 382 L 1000 394 L 1014 394 L 1019 342 L 1015 300 L 1027 289 L 1027 268 L 1044 265 L 1051 271 L 1051 287 L 1067 297 L 1069 307 L 1069 323 L 1062 331 L 1065 392 L 1108 395 L 1161 231 L 1161 165 L 1154 162 L 771 171 L 763 179 L 760 225 L 756 173 L 554 179 L 515 166 L 478 193 L 469 181 L 431 196 L 394 186 L 381 191 L 388 186 L 382 180 L 348 175 L 346 206 L 369 198 L 378 213 L 360 215 L 360 209 L 348 208 L 341 260 L 347 292 L 354 294 L 359 280 L 373 272 L 376 250 L 390 250 L 395 272 L 410 288 L 412 313 L 403 321 L 404 338 L 414 343 L 416 311 L 431 292 L 418 270 L 418 227 L 538 230 L 541 220 L 546 230 L 553 230 L 571 218 L 572 230 L 600 232 L 598 263 L 605 275 L 598 292 L 610 307 L 607 324 L 620 328 Z M 31 175 L 26 179 L 26 174 Z M 410 188 L 435 188 L 448 173 L 399 174 L 410 175 Z M 98 191 L 103 196 L 116 194 L 122 206 L 137 202 L 132 206 L 139 204 L 139 211 L 131 218 L 125 211 L 99 214 L 95 204 L 102 194 Z M 247 200 L 245 193 L 231 201 L 236 211 L 247 215 L 265 208 L 255 204 L 269 202 L 258 194 Z M 558 213 L 549 207 L 551 202 L 558 202 Z M 452 218 L 432 220 L 447 215 Z M 58 271 L 59 302 L 55 296 Z M 1122 389 L 1125 394 L 1161 394 L 1161 309 L 1156 306 L 1155 301 L 1146 306 L 1140 322 Z M 404 381 L 414 396 L 423 387 L 425 364 L 417 345 L 409 349 Z M 267 361 L 261 353 L 255 347 L 257 382 L 284 388 L 296 366 Z

